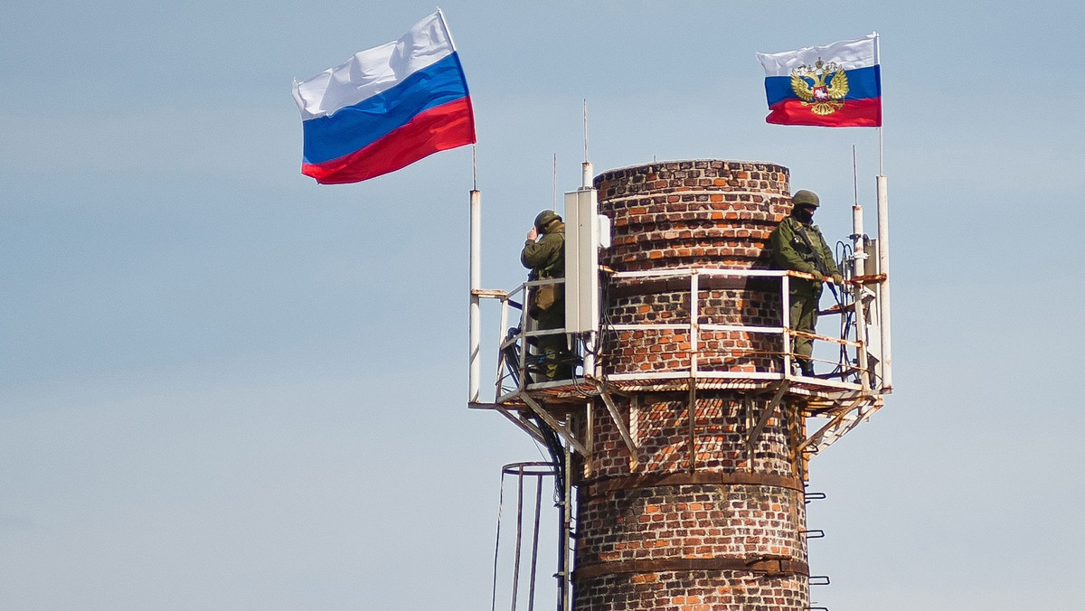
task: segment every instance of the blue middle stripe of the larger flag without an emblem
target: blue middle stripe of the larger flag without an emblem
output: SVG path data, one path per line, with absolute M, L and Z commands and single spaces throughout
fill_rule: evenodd
M 460 60 L 452 53 L 392 89 L 331 115 L 303 122 L 305 163 L 319 164 L 348 155 L 407 125 L 419 113 L 467 94 Z

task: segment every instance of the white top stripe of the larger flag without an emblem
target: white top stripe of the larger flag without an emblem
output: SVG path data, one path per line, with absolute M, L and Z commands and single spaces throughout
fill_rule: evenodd
M 452 53 L 452 41 L 434 13 L 399 40 L 359 51 L 349 60 L 303 81 L 294 81 L 302 119 L 330 115 L 395 87 L 414 72 Z

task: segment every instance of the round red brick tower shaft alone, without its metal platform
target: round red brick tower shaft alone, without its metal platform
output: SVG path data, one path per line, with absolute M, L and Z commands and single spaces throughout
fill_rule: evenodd
M 764 163 L 649 164 L 604 173 L 596 187 L 613 224 L 601 263 L 620 272 L 767 268 L 768 234 L 790 208 L 787 168 Z M 700 322 L 778 321 L 779 289 L 760 280 L 701 279 Z M 688 281 L 615 280 L 603 308 L 616 326 L 688 319 Z M 690 369 L 689 330 L 623 330 L 603 341 L 608 377 Z M 779 336 L 720 330 L 698 342 L 699 370 L 778 370 Z M 803 420 L 794 404 L 777 399 L 748 443 L 773 399 L 666 378 L 615 394 L 639 446 L 633 450 L 610 416 L 596 412 L 590 462 L 577 482 L 577 611 L 809 607 L 795 453 Z

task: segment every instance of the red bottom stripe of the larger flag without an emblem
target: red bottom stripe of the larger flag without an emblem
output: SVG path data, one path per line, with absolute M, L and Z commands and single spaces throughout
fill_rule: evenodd
M 471 98 L 467 97 L 420 113 L 365 149 L 320 164 L 302 164 L 302 174 L 322 184 L 358 182 L 474 141 Z

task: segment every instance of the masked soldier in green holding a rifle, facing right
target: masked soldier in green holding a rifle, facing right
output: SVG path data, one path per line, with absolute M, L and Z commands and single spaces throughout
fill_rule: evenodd
M 817 324 L 821 283 L 831 281 L 843 284 L 844 278 L 832 259 L 832 251 L 825 242 L 821 230 L 814 225 L 814 212 L 819 201 L 816 193 L 801 189 L 791 196 L 791 216 L 773 230 L 768 243 L 773 249 L 773 263 L 777 269 L 793 269 L 814 276 L 814 281 L 791 279 L 791 329 L 814 333 Z M 814 375 L 814 340 L 800 335 L 791 339 L 792 351 L 803 375 Z

